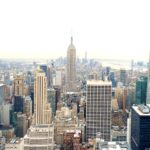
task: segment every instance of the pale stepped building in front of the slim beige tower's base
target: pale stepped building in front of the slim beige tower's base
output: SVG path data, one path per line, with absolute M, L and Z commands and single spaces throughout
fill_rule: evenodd
M 53 150 L 54 126 L 31 126 L 24 137 L 24 150 Z

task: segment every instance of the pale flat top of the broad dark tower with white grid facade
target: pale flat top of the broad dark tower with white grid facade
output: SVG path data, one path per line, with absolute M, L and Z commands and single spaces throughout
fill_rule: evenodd
M 103 81 L 103 80 L 87 80 L 87 85 L 112 85 L 112 83 L 110 81 Z

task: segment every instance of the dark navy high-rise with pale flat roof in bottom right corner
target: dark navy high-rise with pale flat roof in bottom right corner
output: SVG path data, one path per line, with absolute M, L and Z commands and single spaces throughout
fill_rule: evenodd
M 147 106 L 132 106 L 131 148 L 132 150 L 150 149 L 150 111 Z

